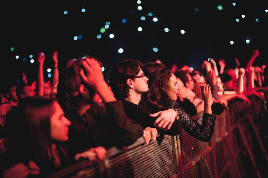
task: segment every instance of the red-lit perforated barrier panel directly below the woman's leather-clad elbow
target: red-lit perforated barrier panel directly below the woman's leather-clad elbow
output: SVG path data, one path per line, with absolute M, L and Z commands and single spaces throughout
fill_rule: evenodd
M 197 122 L 201 125 L 202 120 L 198 119 Z M 199 141 L 183 130 L 182 134 L 180 135 L 182 166 L 186 165 L 190 160 L 204 151 L 207 147 L 209 147 L 208 142 Z

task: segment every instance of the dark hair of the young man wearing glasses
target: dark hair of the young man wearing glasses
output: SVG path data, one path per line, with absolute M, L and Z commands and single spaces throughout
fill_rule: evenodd
M 114 96 L 117 100 L 121 100 L 128 97 L 130 87 L 126 81 L 128 78 L 134 78 L 138 75 L 143 65 L 139 61 L 126 59 L 115 64 L 109 75 L 109 85 L 113 91 Z

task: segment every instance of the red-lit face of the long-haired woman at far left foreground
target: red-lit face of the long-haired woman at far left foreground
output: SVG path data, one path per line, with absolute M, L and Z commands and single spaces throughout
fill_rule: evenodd
M 53 114 L 50 117 L 51 137 L 54 141 L 67 141 L 71 122 L 64 116 L 59 103 L 53 102 Z

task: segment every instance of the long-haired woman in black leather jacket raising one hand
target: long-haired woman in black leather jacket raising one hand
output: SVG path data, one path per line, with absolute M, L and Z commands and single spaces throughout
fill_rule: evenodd
M 169 69 L 156 70 L 152 73 L 152 86 L 148 91 L 148 99 L 160 107 L 168 107 L 175 109 L 177 117 L 182 124 L 183 129 L 200 141 L 210 141 L 216 116 L 212 114 L 211 110 L 211 90 L 208 84 L 205 84 L 201 89 L 201 94 L 204 99 L 204 113 L 202 118 L 202 125 L 199 125 L 189 114 L 177 103 L 177 95 L 179 94 L 179 87 L 177 86 L 177 79 Z

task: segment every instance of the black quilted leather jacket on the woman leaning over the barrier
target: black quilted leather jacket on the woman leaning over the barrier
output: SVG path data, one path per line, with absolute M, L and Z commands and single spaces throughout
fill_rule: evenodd
M 183 129 L 189 135 L 200 141 L 211 140 L 216 121 L 215 115 L 204 113 L 202 125 L 199 125 L 194 119 L 191 118 L 191 116 L 189 116 L 189 114 L 180 106 L 177 101 L 170 100 L 168 98 L 161 98 L 161 101 L 163 106 L 175 109 L 179 113 L 179 121 Z

